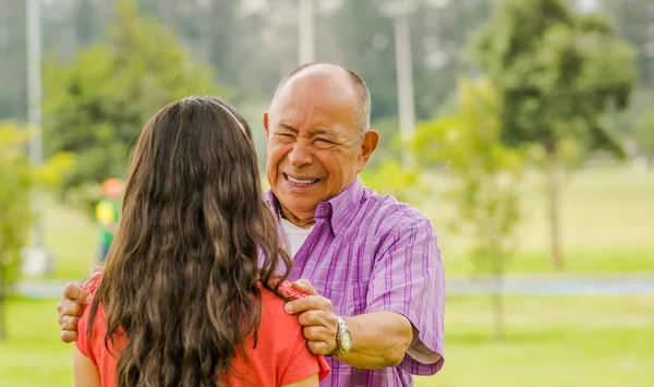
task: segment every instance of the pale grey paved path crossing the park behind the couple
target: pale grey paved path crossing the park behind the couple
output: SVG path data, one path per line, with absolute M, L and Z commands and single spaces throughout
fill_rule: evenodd
M 75 280 L 25 280 L 19 283 L 21 295 L 36 299 L 58 299 L 63 287 Z M 449 277 L 448 294 L 487 294 L 492 291 L 487 278 Z M 511 295 L 654 295 L 654 273 L 622 275 L 509 275 L 502 292 Z

